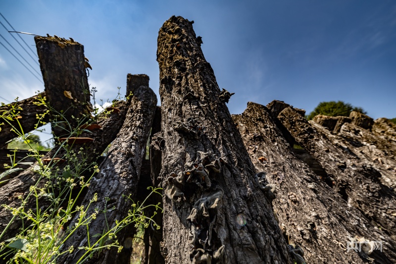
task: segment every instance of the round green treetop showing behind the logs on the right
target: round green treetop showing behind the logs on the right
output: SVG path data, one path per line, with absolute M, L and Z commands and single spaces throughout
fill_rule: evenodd
M 311 120 L 315 115 L 323 114 L 329 116 L 349 116 L 351 111 L 356 111 L 366 114 L 367 112 L 361 107 L 351 106 L 343 101 L 330 101 L 330 102 L 320 102 L 318 106 L 310 112 L 306 118 Z

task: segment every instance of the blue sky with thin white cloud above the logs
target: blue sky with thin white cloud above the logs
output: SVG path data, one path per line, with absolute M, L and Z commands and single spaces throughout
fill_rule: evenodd
M 195 21 L 219 87 L 236 93 L 231 113 L 248 101 L 282 100 L 309 113 L 319 102 L 341 100 L 373 118 L 396 117 L 394 0 L 1 0 L 0 12 L 17 31 L 83 44 L 93 67 L 89 83 L 104 101 L 117 87 L 125 94 L 127 73 L 148 74 L 159 99 L 158 30 L 181 15 Z M 37 57 L 1 25 L 0 34 L 40 72 Z M 33 37 L 21 37 L 36 52 Z M 44 85 L 0 46 L 0 101 L 38 90 Z

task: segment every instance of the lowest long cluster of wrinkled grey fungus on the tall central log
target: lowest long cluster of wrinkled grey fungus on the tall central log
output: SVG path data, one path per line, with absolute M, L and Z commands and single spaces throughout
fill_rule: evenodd
M 193 263 L 210 263 L 212 260 L 221 260 L 224 246 L 215 251 L 211 247 L 212 230 L 216 221 L 216 208 L 223 197 L 224 191 L 220 188 L 215 192 L 203 193 L 195 204 L 187 220 L 191 222 L 191 245 L 193 250 L 190 254 Z

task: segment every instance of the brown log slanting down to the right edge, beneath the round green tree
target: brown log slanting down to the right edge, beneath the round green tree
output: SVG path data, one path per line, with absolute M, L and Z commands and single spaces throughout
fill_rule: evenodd
M 272 102 L 268 107 L 276 104 L 277 102 Z M 349 206 L 360 210 L 374 226 L 380 227 L 395 239 L 395 193 L 383 181 L 384 175 L 375 169 L 373 161 L 361 155 L 353 146 L 357 141 L 348 142 L 345 137 L 332 134 L 314 122 L 308 122 L 291 106 L 282 109 L 277 118 L 293 135 L 297 144 L 321 164 L 327 174 L 323 180 Z M 345 125 L 354 126 L 354 131 L 362 130 L 351 123 Z

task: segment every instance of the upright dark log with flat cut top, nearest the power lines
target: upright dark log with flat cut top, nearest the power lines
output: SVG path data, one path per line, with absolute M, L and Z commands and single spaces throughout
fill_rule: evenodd
M 77 118 L 90 116 L 93 111 L 86 72 L 86 66 L 91 66 L 84 57 L 84 46 L 56 36 L 34 39 L 52 108 L 52 132 L 58 137 L 68 136 L 76 127 Z M 58 116 L 60 113 L 63 117 Z

